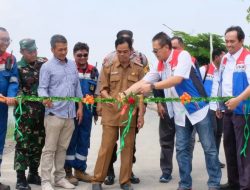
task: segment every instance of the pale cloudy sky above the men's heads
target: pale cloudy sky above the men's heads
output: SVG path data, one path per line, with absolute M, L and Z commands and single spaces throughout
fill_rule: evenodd
M 51 57 L 49 40 L 63 34 L 69 42 L 68 57 L 78 41 L 90 46 L 90 62 L 98 62 L 114 50 L 116 33 L 134 32 L 135 49 L 155 62 L 151 39 L 160 32 L 180 30 L 190 34 L 223 35 L 227 27 L 239 25 L 250 44 L 246 10 L 250 0 L 0 0 L 0 26 L 7 28 L 13 50 L 20 58 L 18 42 L 34 38 L 40 56 Z

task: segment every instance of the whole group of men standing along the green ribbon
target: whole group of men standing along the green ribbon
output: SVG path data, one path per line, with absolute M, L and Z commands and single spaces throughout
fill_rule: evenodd
M 17 95 L 42 96 L 42 102 L 21 102 L 22 113 L 14 133 L 16 140 L 14 169 L 17 174 L 16 189 L 30 190 L 29 184 L 41 185 L 43 190 L 54 186 L 73 189 L 79 181 L 91 182 L 93 190 L 102 190 L 102 183 L 114 184 L 113 164 L 116 161 L 117 140 L 122 134 L 127 114 L 121 115 L 114 103 L 102 103 L 89 109 L 81 102 L 52 102 L 49 97 L 79 97 L 86 94 L 102 98 L 124 98 L 131 92 L 155 97 L 180 97 L 187 92 L 193 97 L 241 96 L 250 82 L 250 52 L 243 47 L 245 34 L 239 26 L 225 32 L 227 53 L 213 51 L 213 61 L 200 67 L 195 58 L 184 50 L 181 38 L 172 39 L 160 32 L 152 39 L 153 53 L 159 60 L 155 68 L 148 69 L 144 54 L 133 48 L 133 33 L 117 33 L 115 51 L 105 59 L 102 69 L 88 63 L 89 47 L 78 42 L 73 48 L 74 61 L 67 59 L 68 43 L 62 35 L 50 39 L 52 58 L 38 57 L 34 39 L 22 39 L 22 58 L 16 62 L 6 50 L 10 44 L 8 31 L 0 27 L 0 164 L 7 130 L 8 106 L 16 106 Z M 48 97 L 46 99 L 46 97 Z M 250 190 L 250 151 L 240 154 L 245 144 L 245 115 L 249 102 L 180 102 L 157 103 L 160 116 L 161 145 L 159 181 L 172 179 L 172 159 L 176 137 L 176 157 L 180 182 L 178 190 L 192 189 L 192 158 L 195 133 L 202 144 L 207 172 L 208 189 Z M 238 105 L 239 104 L 239 105 Z M 120 187 L 132 190 L 131 183 L 140 183 L 132 172 L 135 163 L 136 134 L 144 125 L 146 105 L 142 102 L 133 115 L 130 130 L 121 152 Z M 15 109 L 18 109 L 15 107 Z M 94 174 L 87 172 L 92 118 L 101 116 L 103 135 Z M 220 184 L 221 168 L 218 159 L 222 133 L 228 183 Z M 94 138 L 94 137 L 93 137 Z M 250 145 L 249 142 L 246 144 Z M 140 147 L 137 147 L 140 148 Z M 41 167 L 41 177 L 38 168 Z M 29 169 L 26 177 L 25 171 Z M 0 190 L 9 190 L 0 183 Z

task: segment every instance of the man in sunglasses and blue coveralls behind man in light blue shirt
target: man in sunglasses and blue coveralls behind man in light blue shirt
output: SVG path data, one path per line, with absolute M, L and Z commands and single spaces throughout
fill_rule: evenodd
M 73 53 L 78 68 L 82 94 L 83 96 L 94 95 L 99 73 L 95 66 L 88 63 L 89 46 L 86 43 L 78 42 L 74 46 Z M 96 122 L 98 119 L 96 106 L 91 110 L 84 105 L 82 122 L 79 125 L 75 122 L 75 130 L 67 150 L 64 168 L 66 178 L 74 185 L 78 184 L 78 180 L 84 182 L 90 182 L 91 180 L 90 175 L 85 171 L 93 117 Z M 72 174 L 72 168 L 75 170 L 74 175 Z

